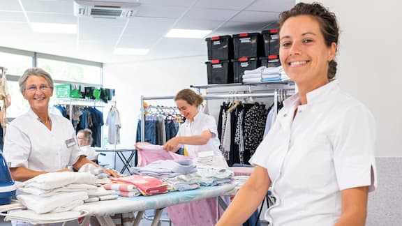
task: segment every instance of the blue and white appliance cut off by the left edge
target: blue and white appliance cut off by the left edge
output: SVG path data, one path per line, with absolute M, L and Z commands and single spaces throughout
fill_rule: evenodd
M 3 153 L 0 151 L 0 205 L 10 204 L 11 198 L 15 195 L 15 183 L 11 178 Z

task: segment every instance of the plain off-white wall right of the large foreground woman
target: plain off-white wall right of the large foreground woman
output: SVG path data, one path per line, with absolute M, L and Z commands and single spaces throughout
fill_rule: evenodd
M 320 2 L 336 14 L 341 27 L 337 57 L 341 86 L 377 121 L 376 156 L 402 156 L 401 1 Z

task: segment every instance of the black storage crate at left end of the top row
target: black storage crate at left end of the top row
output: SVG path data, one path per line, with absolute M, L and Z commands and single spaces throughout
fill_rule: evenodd
M 214 36 L 205 38 L 208 47 L 208 59 L 232 59 L 232 36 Z

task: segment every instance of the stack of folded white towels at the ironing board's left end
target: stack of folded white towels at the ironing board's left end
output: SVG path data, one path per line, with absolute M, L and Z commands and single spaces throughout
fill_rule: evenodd
M 96 177 L 89 173 L 51 172 L 40 174 L 18 184 L 21 195 L 17 199 L 36 213 L 63 212 L 73 209 L 92 197 L 116 199 L 117 195 L 105 193 L 96 185 Z M 101 190 L 100 190 L 101 189 Z

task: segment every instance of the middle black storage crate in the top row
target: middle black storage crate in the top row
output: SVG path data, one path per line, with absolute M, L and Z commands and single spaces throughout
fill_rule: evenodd
M 233 35 L 234 59 L 240 57 L 260 57 L 264 46 L 260 33 L 239 33 Z

